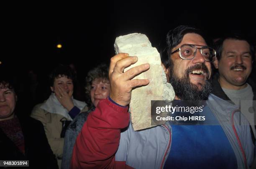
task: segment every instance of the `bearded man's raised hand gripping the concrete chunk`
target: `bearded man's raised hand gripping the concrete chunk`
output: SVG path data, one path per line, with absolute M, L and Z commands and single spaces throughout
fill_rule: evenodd
M 122 105 L 127 106 L 131 101 L 131 91 L 134 87 L 148 85 L 147 79 L 133 79 L 133 77 L 149 69 L 148 63 L 142 64 L 123 72 L 126 67 L 138 61 L 138 57 L 129 57 L 127 53 L 115 55 L 110 60 L 109 79 L 110 79 L 110 98 Z

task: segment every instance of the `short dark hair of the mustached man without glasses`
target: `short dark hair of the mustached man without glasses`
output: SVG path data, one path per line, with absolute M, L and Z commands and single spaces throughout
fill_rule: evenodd
M 223 51 L 223 42 L 225 40 L 244 40 L 244 41 L 248 42 L 248 44 L 250 45 L 251 58 L 252 58 L 252 60 L 254 60 L 253 43 L 245 35 L 237 34 L 237 33 L 225 35 L 225 37 L 220 38 L 218 41 L 216 41 L 214 43 L 214 49 L 216 50 L 216 57 L 218 60 L 220 60 L 220 58 L 221 58 L 221 53 Z

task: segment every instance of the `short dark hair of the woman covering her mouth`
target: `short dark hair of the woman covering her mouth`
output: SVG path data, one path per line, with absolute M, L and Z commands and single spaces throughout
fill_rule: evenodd
M 76 80 L 76 75 L 71 67 L 67 65 L 58 65 L 49 75 L 50 86 L 54 85 L 55 78 L 67 77 L 71 79 L 73 82 Z

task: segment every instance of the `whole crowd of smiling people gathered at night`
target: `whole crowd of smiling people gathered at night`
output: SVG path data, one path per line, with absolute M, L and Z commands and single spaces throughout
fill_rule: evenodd
M 76 72 L 58 65 L 51 94 L 27 115 L 16 109 L 12 77 L 0 77 L 0 160 L 29 160 L 36 168 L 253 169 L 256 167 L 256 81 L 253 42 L 232 34 L 209 40 L 197 28 L 170 30 L 158 50 L 175 100 L 205 100 L 203 113 L 216 125 L 164 125 L 134 131 L 133 79 L 149 64 L 124 68 L 138 57 L 120 53 L 84 77 L 85 100 L 74 99 Z M 81 84 L 79 85 L 81 86 Z M 80 97 L 83 98 L 83 97 Z M 143 105 L 141 105 L 143 107 Z M 143 113 L 143 112 L 141 112 Z M 44 163 L 42 163 L 44 162 Z

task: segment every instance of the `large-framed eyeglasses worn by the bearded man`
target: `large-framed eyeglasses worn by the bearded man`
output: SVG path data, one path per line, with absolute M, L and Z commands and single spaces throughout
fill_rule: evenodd
M 196 47 L 196 46 L 200 46 Z M 171 54 L 179 51 L 179 57 L 184 60 L 192 60 L 194 59 L 197 49 L 200 49 L 202 56 L 205 58 L 206 62 L 213 62 L 216 60 L 216 52 L 212 47 L 203 46 L 203 45 L 190 45 L 184 44 L 179 47 L 179 49 L 174 50 Z

